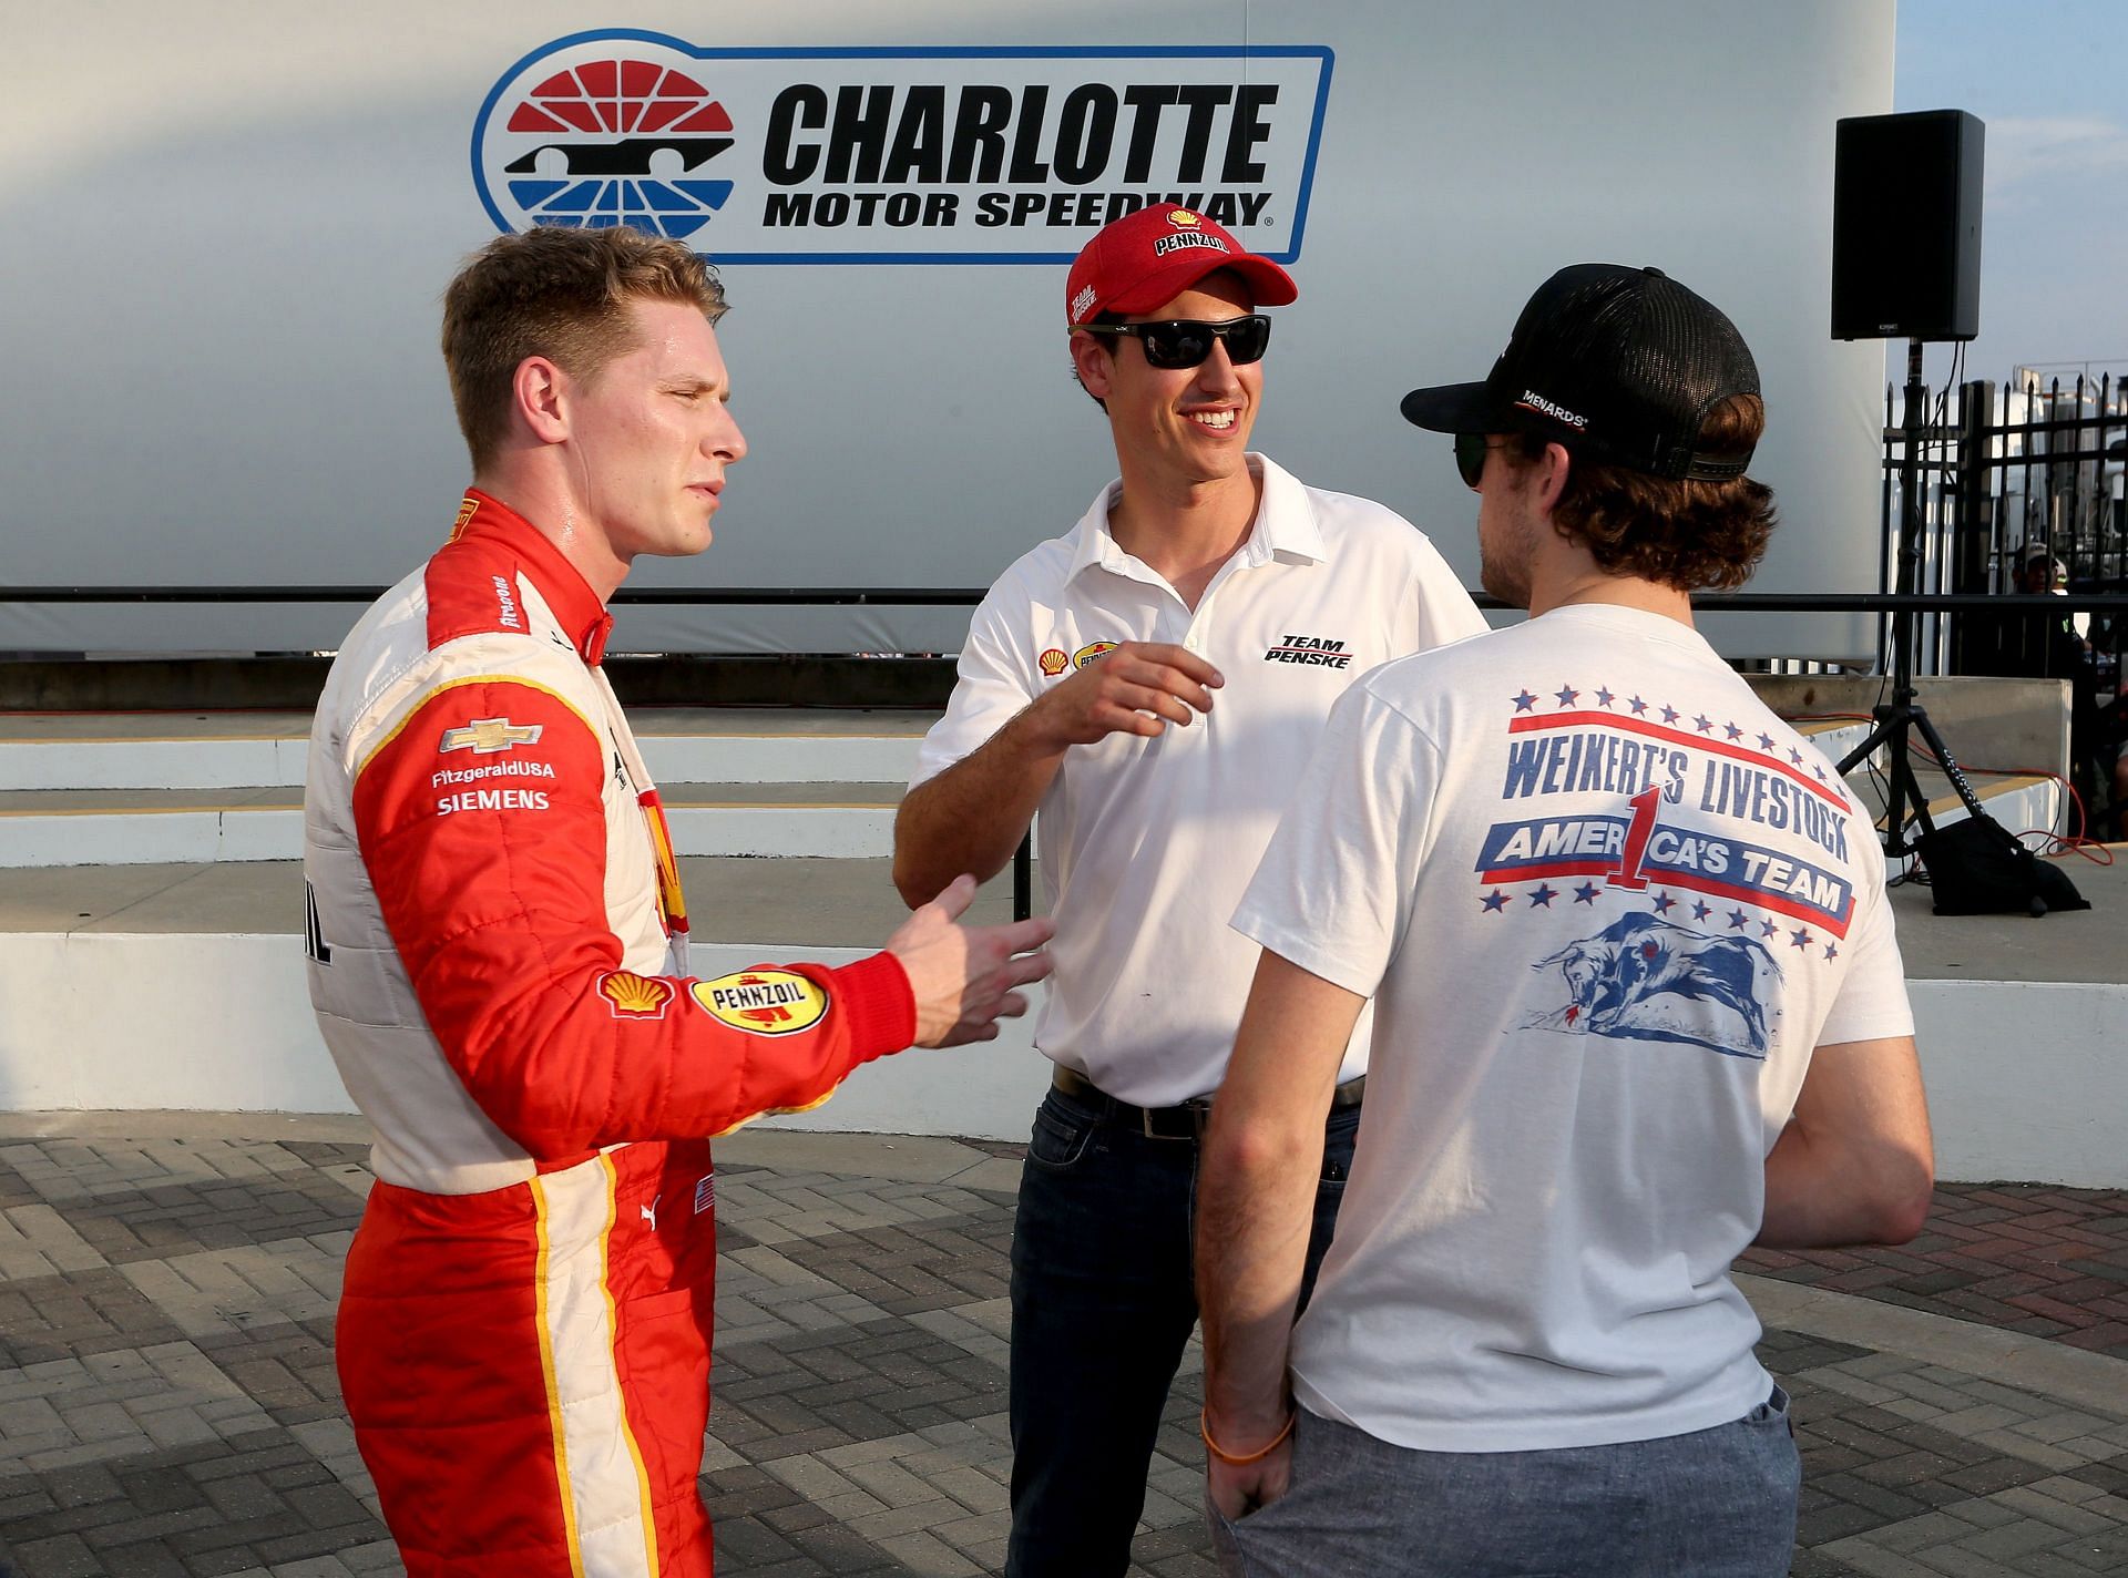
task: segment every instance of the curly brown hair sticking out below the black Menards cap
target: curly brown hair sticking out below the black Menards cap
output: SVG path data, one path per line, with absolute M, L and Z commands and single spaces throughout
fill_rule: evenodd
M 1694 449 L 1749 455 L 1766 430 L 1758 396 L 1715 406 Z M 1568 451 L 1573 447 L 1568 444 Z M 1545 440 L 1509 434 L 1509 457 L 1541 459 Z M 1673 483 L 1647 472 L 1573 457 L 1551 523 L 1587 544 L 1611 574 L 1658 581 L 1679 591 L 1730 591 L 1751 578 L 1773 536 L 1773 489 L 1739 476 L 1728 483 Z

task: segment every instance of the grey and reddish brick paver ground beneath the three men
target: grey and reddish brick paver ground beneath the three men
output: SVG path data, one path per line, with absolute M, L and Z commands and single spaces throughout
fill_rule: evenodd
M 332 1370 L 364 1148 L 200 1129 L 0 1138 L 13 1578 L 400 1572 Z M 702 1476 L 721 1572 L 998 1569 L 1013 1165 L 936 1140 L 726 1146 Z M 2128 1197 L 1949 1187 L 1913 1246 L 1741 1270 L 1790 1310 L 1762 1357 L 1805 1450 L 1794 1574 L 2128 1574 Z M 1198 1395 L 1192 1350 L 1141 1574 L 1213 1572 Z

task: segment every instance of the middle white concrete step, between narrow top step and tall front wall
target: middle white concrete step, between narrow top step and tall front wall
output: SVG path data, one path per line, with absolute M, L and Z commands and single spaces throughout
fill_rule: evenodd
M 894 853 L 902 783 L 666 783 L 681 855 Z M 302 857 L 302 789 L 0 791 L 0 868 Z

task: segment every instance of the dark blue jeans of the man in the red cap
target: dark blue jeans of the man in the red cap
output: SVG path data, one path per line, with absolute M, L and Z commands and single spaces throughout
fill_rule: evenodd
M 1300 1302 L 1336 1227 L 1360 1108 L 1330 1114 Z M 1196 1140 L 1058 1091 L 1034 1114 L 1013 1231 L 1009 1578 L 1130 1565 L 1168 1384 L 1196 1327 Z

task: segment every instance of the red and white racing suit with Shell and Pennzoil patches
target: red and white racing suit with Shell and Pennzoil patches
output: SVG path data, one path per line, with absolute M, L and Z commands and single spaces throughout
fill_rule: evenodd
M 598 595 L 466 493 L 349 634 L 311 1002 L 377 1129 L 338 1367 L 409 1574 L 709 1574 L 709 1138 L 915 1036 L 887 955 L 696 980 Z

